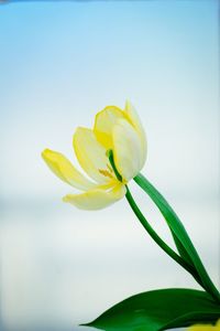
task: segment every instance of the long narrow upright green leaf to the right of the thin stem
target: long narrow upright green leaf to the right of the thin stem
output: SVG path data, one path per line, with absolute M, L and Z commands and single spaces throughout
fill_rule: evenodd
M 199 275 L 199 278 L 202 281 L 204 288 L 209 291 L 218 302 L 220 302 L 220 295 L 212 284 L 208 273 L 206 271 L 201 259 L 194 247 L 183 223 L 163 197 L 163 195 L 143 177 L 143 174 L 138 174 L 134 178 L 134 181 L 148 194 L 148 196 L 154 201 L 162 215 L 167 222 L 168 227 L 170 228 L 173 235 L 175 236 L 175 244 L 182 257 L 190 261 L 194 266 L 196 273 Z

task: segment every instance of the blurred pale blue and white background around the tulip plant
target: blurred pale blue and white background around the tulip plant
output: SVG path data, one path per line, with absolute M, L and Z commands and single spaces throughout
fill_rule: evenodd
M 0 6 L 0 330 L 78 330 L 140 291 L 197 288 L 125 200 L 99 212 L 64 204 L 72 189 L 41 159 L 50 147 L 75 160 L 75 128 L 127 98 L 147 132 L 143 172 L 219 285 L 218 55 L 218 1 Z M 131 188 L 172 243 L 156 209 Z

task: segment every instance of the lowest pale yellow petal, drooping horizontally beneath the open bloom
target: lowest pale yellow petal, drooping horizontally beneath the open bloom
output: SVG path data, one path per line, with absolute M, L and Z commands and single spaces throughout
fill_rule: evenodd
M 80 210 L 96 211 L 105 209 L 122 199 L 127 193 L 123 184 L 118 184 L 110 191 L 94 189 L 82 194 L 67 194 L 64 202 L 68 202 Z

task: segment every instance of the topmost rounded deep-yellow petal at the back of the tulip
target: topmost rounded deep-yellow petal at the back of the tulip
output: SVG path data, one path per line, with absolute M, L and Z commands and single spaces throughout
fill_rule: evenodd
M 114 106 L 108 106 L 96 115 L 94 132 L 106 149 L 112 148 L 112 128 L 119 118 L 124 118 L 124 113 Z

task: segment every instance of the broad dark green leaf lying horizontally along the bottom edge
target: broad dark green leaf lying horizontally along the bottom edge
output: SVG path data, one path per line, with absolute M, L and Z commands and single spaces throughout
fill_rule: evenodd
M 130 297 L 84 325 L 108 331 L 160 331 L 211 323 L 219 317 L 220 306 L 204 291 L 162 289 Z

